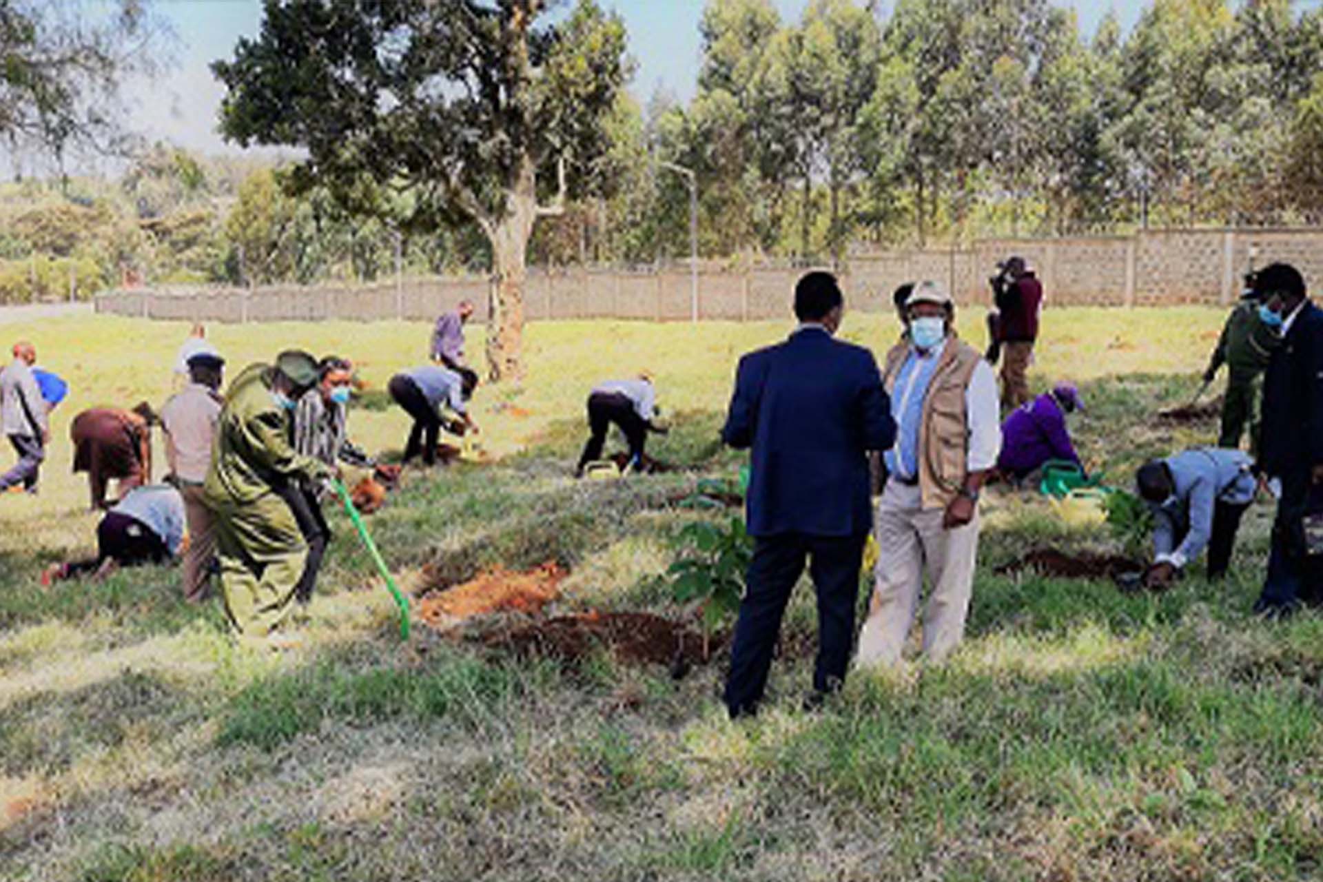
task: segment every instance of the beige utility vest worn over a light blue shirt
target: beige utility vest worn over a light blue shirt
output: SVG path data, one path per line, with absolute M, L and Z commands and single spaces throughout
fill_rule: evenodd
M 896 381 L 910 353 L 909 341 L 886 353 L 882 385 L 894 401 Z M 960 341 L 954 331 L 938 356 L 933 380 L 923 398 L 918 430 L 918 487 L 923 508 L 946 508 L 964 484 L 970 458 L 970 422 L 964 391 L 978 368 L 980 356 Z

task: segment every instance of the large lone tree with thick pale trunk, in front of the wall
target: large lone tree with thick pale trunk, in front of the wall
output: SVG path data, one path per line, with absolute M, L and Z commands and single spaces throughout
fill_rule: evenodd
M 262 32 L 213 66 L 221 130 L 307 151 L 291 192 L 413 233 L 471 221 L 492 246 L 493 378 L 517 376 L 537 200 L 583 194 L 609 151 L 624 28 L 594 0 L 267 0 Z

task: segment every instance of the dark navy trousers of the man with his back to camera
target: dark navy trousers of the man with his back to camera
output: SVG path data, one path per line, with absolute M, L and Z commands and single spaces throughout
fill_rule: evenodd
M 790 592 L 804 571 L 818 591 L 818 661 L 814 689 L 835 692 L 845 680 L 855 641 L 855 607 L 865 536 L 785 533 L 758 537 L 730 648 L 725 701 L 732 717 L 758 710 Z

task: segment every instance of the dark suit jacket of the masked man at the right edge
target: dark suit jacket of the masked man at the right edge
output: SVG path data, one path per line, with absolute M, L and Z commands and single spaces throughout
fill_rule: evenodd
M 1259 465 L 1298 476 L 1323 463 L 1323 309 L 1306 301 L 1263 376 Z

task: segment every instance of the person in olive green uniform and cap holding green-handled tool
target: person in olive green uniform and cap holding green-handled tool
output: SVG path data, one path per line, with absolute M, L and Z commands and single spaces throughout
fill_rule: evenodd
M 230 386 L 216 427 L 205 495 L 225 612 L 242 637 L 265 637 L 280 623 L 307 562 L 308 543 L 283 493 L 331 473 L 291 443 L 294 407 L 316 382 L 316 358 L 306 352 L 250 365 Z

